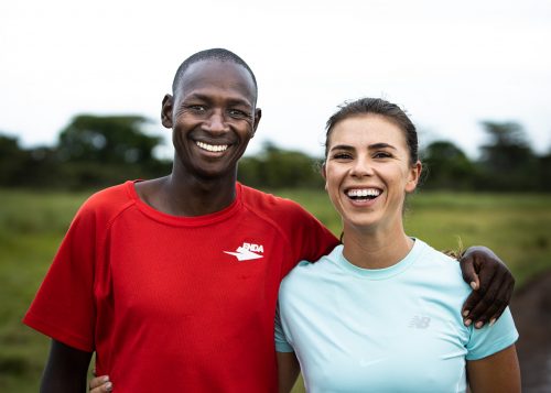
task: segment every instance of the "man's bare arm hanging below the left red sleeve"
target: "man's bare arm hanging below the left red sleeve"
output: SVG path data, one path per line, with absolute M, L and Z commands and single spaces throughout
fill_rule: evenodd
M 86 392 L 86 375 L 90 359 L 91 352 L 85 352 L 57 340 L 52 340 L 40 392 Z

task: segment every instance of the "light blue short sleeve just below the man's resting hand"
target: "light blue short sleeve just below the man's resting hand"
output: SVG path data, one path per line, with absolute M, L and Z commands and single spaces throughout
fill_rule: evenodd
M 507 307 L 493 326 L 486 325 L 482 329 L 472 328 L 466 360 L 478 360 L 499 352 L 514 345 L 518 337 L 511 312 Z

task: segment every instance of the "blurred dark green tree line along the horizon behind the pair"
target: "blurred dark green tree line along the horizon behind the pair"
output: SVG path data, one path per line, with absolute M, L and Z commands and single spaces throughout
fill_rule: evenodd
M 159 135 L 144 130 L 140 116 L 76 116 L 54 146 L 23 149 L 18 138 L 0 133 L 0 186 L 79 189 L 105 187 L 129 178 L 170 172 L 171 160 L 155 156 Z M 488 142 L 469 159 L 450 141 L 422 149 L 422 187 L 450 190 L 550 192 L 551 149 L 536 154 L 516 122 L 482 123 Z M 239 163 L 239 181 L 259 188 L 322 188 L 322 159 L 266 143 Z

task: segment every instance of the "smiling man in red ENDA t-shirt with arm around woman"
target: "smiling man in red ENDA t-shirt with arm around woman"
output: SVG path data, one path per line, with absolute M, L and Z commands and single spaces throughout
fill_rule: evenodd
M 84 389 L 94 351 L 118 392 L 277 391 L 279 284 L 337 240 L 299 205 L 236 183 L 261 117 L 256 102 L 252 72 L 229 51 L 180 66 L 161 113 L 172 173 L 90 197 L 24 318 L 53 338 L 44 392 Z M 508 274 L 495 261 L 483 266 L 482 284 Z M 477 280 L 473 264 L 466 274 Z M 469 318 L 503 312 L 482 308 Z

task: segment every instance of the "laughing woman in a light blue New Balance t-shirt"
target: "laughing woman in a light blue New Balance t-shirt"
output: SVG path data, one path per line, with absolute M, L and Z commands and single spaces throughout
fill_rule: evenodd
M 465 326 L 458 265 L 404 232 L 421 174 L 407 114 L 381 99 L 350 102 L 327 121 L 325 155 L 343 244 L 281 284 L 280 391 L 295 381 L 295 353 L 309 392 L 465 392 L 467 375 L 472 392 L 519 392 L 510 312 Z

